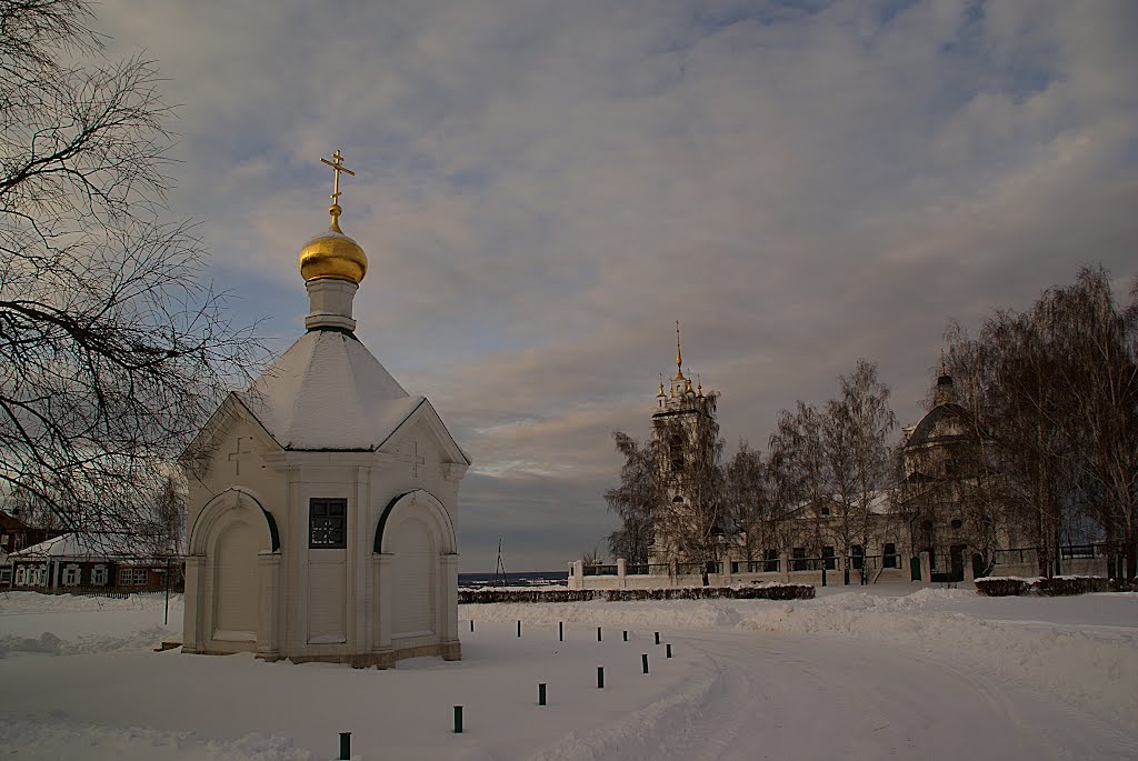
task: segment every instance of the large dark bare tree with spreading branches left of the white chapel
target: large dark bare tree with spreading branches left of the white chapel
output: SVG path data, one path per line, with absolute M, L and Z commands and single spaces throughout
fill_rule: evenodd
M 0 485 L 121 531 L 262 347 L 167 218 L 156 68 L 104 57 L 92 23 L 0 0 Z

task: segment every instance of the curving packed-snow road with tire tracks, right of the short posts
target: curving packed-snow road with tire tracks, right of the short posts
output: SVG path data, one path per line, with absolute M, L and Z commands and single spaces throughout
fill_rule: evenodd
M 858 642 L 685 632 L 720 689 L 654 747 L 605 759 L 1135 759 L 1138 738 L 953 657 Z

